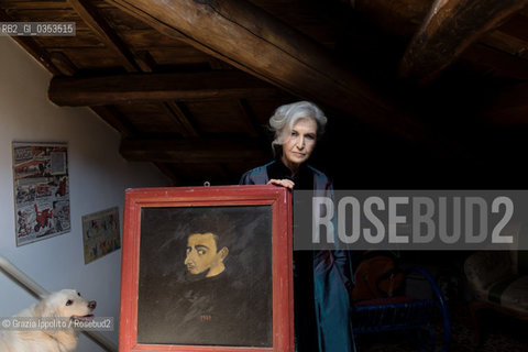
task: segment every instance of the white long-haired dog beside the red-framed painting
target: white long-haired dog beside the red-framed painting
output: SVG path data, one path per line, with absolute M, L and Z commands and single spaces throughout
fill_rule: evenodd
M 94 318 L 91 312 L 96 306 L 95 300 L 88 301 L 75 289 L 63 289 L 13 317 L 66 318 L 66 321 L 89 320 Z M 38 319 L 30 321 L 38 321 Z M 53 320 L 41 319 L 41 321 Z M 61 319 L 61 321 L 65 320 Z M 70 328 L 70 324 L 61 329 L 4 329 L 0 333 L 1 352 L 68 352 L 76 346 L 77 332 Z

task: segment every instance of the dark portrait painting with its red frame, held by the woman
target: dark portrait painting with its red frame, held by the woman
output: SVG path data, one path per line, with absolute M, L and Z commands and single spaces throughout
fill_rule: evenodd
M 120 352 L 293 352 L 292 245 L 282 187 L 127 190 Z

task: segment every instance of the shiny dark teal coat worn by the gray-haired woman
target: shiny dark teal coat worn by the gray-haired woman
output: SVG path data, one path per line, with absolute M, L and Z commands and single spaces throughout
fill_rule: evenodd
M 267 167 L 274 163 L 276 162 L 246 172 L 240 185 L 266 185 L 270 180 Z M 329 178 L 316 168 L 308 167 L 314 173 L 316 194 L 332 196 L 333 188 Z M 355 351 L 349 315 L 350 280 L 344 275 L 346 265 L 345 251 L 314 252 L 314 297 L 320 352 Z

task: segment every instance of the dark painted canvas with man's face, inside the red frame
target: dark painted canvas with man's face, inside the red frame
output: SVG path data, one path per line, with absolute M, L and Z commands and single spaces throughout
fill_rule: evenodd
M 271 209 L 142 212 L 138 341 L 271 346 Z

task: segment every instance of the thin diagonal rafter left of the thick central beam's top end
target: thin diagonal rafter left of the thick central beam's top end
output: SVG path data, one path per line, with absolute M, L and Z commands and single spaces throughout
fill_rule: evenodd
M 129 73 L 141 72 L 134 55 L 127 44 L 116 34 L 112 28 L 98 13 L 97 9 L 86 0 L 68 0 L 74 10 L 85 23 L 101 38 L 105 45 L 121 57 L 121 62 Z

